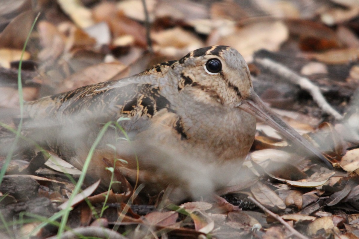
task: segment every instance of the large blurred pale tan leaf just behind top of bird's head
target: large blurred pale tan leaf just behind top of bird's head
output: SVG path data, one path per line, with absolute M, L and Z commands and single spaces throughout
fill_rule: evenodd
M 288 28 L 283 22 L 262 21 L 238 27 L 232 34 L 220 37 L 215 44 L 236 48 L 248 62 L 259 49 L 278 51 L 288 36 Z

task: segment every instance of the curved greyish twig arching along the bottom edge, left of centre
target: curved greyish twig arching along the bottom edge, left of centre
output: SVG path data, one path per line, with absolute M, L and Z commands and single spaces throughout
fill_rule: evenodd
M 71 231 L 65 231 L 60 236 L 51 236 L 47 239 L 72 239 L 83 237 L 96 237 L 96 238 L 113 238 L 113 239 L 126 239 L 117 231 L 112 231 L 108 228 L 98 226 L 83 226 L 74 228 Z

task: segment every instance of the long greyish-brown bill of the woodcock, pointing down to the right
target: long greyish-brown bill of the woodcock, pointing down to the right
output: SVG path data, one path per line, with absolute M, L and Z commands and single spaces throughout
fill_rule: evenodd
M 272 128 L 278 131 L 284 138 L 288 139 L 291 143 L 305 149 L 310 156 L 315 155 L 319 158 L 328 168 L 332 169 L 332 164 L 328 159 L 322 155 L 322 153 L 315 148 L 311 143 L 304 139 L 297 131 L 281 120 L 254 92 L 251 87 L 251 96 L 243 101 L 243 104 L 239 106 L 247 113 L 256 116 L 257 119 L 270 125 Z

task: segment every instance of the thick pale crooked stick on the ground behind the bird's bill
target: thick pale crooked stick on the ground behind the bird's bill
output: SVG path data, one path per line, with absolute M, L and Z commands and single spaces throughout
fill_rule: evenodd
M 290 70 L 279 63 L 276 63 L 268 58 L 257 58 L 256 63 L 267 68 L 268 70 L 288 78 L 288 80 L 300 88 L 307 90 L 313 97 L 313 100 L 317 102 L 318 106 L 327 114 L 334 116 L 336 120 L 342 120 L 343 116 L 340 115 L 335 109 L 333 109 L 323 97 L 318 86 L 314 85 L 307 77 L 303 77 Z

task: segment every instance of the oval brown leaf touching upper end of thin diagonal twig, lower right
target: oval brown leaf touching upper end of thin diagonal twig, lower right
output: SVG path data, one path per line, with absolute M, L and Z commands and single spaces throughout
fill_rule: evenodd
M 286 206 L 283 200 L 271 190 L 268 186 L 264 185 L 263 183 L 257 182 L 255 185 L 251 187 L 251 192 L 253 196 L 261 202 L 262 205 L 267 207 L 277 207 L 278 209 L 285 209 Z

